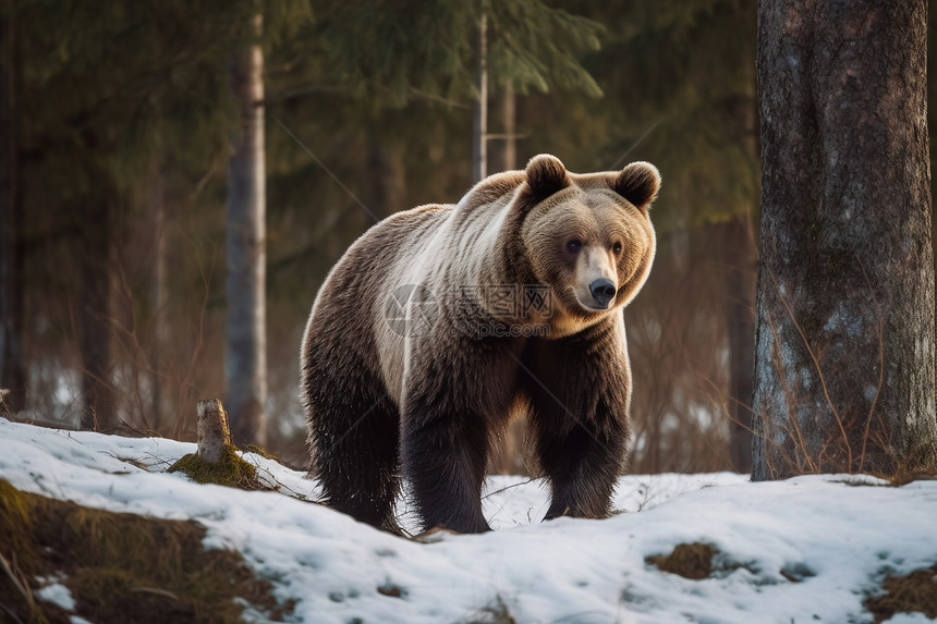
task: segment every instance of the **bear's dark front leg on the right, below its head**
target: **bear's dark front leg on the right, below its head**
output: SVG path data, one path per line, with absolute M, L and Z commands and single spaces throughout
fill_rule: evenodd
M 544 519 L 611 512 L 631 395 L 624 323 L 616 317 L 576 335 L 532 341 L 525 353 L 531 433 L 552 492 Z

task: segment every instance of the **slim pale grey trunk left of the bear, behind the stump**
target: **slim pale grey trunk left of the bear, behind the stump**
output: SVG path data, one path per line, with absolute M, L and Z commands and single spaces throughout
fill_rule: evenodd
M 260 15 L 252 21 L 253 39 Z M 231 428 L 238 443 L 265 443 L 267 343 L 265 327 L 264 56 L 256 40 L 235 50 L 231 88 L 241 123 L 228 163 L 228 323 L 226 376 Z

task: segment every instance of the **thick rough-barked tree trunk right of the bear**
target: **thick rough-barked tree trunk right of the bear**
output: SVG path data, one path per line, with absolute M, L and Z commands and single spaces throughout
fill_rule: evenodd
M 937 468 L 926 29 L 760 3 L 754 479 Z

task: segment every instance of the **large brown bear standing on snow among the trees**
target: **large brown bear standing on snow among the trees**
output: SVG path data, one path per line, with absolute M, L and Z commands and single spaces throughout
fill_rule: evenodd
M 575 174 L 540 155 L 362 235 L 302 346 L 324 501 L 400 533 L 405 477 L 425 529 L 489 530 L 486 462 L 523 416 L 551 488 L 546 518 L 608 516 L 630 435 L 621 308 L 650 270 L 659 185 L 646 162 Z

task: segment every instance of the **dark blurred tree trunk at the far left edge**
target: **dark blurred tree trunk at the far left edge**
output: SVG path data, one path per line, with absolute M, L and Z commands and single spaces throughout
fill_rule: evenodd
M 9 390 L 3 402 L 13 414 L 26 407 L 14 35 L 12 17 L 4 15 L 0 23 L 0 389 Z

